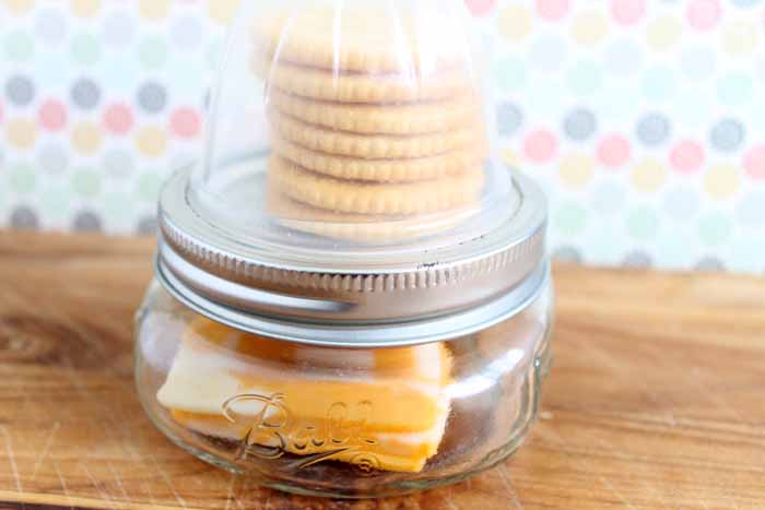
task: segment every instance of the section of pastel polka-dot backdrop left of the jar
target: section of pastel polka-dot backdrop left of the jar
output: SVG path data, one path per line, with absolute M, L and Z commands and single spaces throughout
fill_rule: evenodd
M 0 228 L 154 233 L 161 183 L 200 154 L 236 4 L 0 1 Z

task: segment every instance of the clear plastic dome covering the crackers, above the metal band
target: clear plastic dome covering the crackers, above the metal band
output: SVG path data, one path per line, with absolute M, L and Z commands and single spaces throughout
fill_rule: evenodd
M 189 202 L 250 246 L 455 246 L 519 204 L 461 0 L 243 2 Z

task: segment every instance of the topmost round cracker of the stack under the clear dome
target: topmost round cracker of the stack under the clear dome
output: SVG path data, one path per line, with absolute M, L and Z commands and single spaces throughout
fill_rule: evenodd
M 422 74 L 467 66 L 471 57 L 462 19 L 443 15 L 445 8 L 427 8 L 352 2 L 267 8 L 258 13 L 254 40 L 280 60 L 328 70 Z

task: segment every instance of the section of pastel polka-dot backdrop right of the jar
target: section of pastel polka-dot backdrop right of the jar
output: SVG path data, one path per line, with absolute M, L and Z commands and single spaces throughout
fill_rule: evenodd
M 545 188 L 555 259 L 765 272 L 765 2 L 494 13 L 501 150 Z

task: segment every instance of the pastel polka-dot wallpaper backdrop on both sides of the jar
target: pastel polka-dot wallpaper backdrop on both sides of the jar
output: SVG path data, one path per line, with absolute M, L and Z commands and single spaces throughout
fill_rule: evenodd
M 466 1 L 557 259 L 765 272 L 765 0 Z M 0 0 L 0 225 L 153 232 L 236 3 Z

